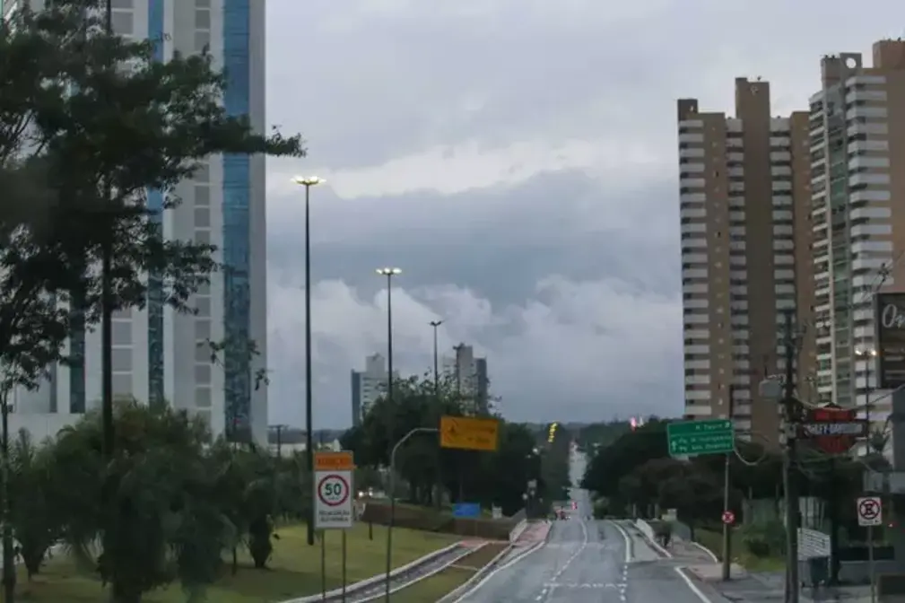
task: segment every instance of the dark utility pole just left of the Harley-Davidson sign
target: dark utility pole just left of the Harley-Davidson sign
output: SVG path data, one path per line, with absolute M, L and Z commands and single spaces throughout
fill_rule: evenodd
M 783 486 L 786 493 L 786 603 L 798 603 L 798 496 L 795 491 L 795 428 L 798 423 L 798 401 L 795 400 L 795 327 L 791 310 L 783 312 L 786 381 L 783 384 L 783 407 L 786 417 L 786 463 Z

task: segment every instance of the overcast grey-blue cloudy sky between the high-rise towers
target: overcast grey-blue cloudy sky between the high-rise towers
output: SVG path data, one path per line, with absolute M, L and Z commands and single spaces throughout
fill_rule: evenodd
M 737 76 L 806 109 L 820 57 L 898 37 L 868 0 L 268 2 L 271 423 L 303 425 L 302 190 L 312 190 L 317 426 L 351 423 L 349 370 L 486 354 L 514 420 L 682 408 L 675 101 L 732 110 Z M 890 25 L 887 25 L 890 24 Z

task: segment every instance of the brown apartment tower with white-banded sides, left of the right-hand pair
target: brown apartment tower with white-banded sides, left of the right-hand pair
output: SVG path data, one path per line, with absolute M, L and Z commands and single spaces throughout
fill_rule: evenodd
M 678 101 L 687 418 L 732 415 L 776 442 L 780 415 L 758 382 L 784 371 L 784 311 L 813 304 L 808 114 L 775 117 L 767 81 L 735 81 L 735 117 Z M 811 339 L 796 361 L 799 391 Z

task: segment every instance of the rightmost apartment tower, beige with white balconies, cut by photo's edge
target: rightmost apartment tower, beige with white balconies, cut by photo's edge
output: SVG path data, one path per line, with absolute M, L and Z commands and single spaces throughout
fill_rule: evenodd
M 905 42 L 872 50 L 872 67 L 825 56 L 810 99 L 817 390 L 843 407 L 876 383 L 872 292 L 905 286 Z M 890 412 L 881 394 L 872 419 Z

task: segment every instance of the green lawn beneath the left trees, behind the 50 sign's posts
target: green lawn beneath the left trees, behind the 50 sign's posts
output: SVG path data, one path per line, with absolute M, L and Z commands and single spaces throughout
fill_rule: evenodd
M 308 546 L 305 526 L 281 528 L 274 541 L 268 570 L 254 570 L 242 550 L 239 571 L 224 577 L 207 591 L 211 603 L 265 603 L 320 592 L 320 546 Z M 341 534 L 327 532 L 327 589 L 342 584 Z M 399 567 L 442 549 L 458 539 L 449 534 L 424 531 L 393 531 L 393 565 Z M 347 532 L 347 583 L 352 584 L 381 573 L 386 568 L 386 528 L 374 526 L 374 540 L 368 540 L 367 524 L 357 524 Z M 40 576 L 27 582 L 24 571 L 18 580 L 17 600 L 29 603 L 106 603 L 109 595 L 92 575 L 86 575 L 64 556 L 49 561 Z M 148 593 L 144 603 L 184 603 L 186 595 L 178 585 Z

